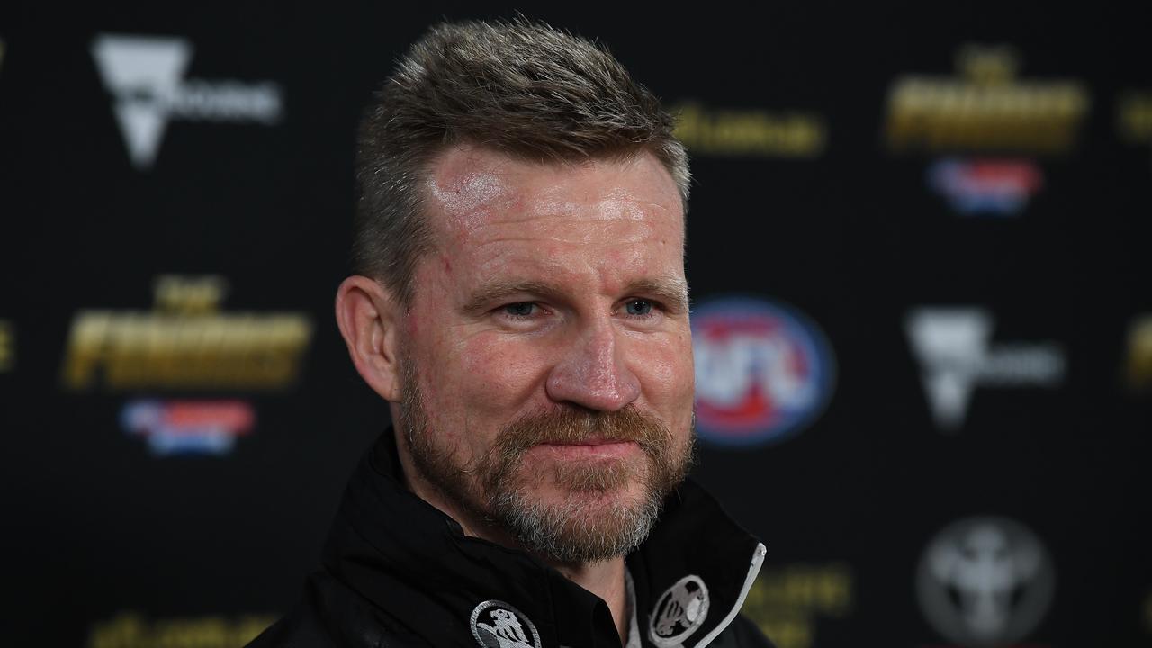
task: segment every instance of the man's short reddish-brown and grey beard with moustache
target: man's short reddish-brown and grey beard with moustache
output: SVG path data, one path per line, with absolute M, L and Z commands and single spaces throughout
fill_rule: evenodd
M 487 452 L 462 466 L 453 449 L 438 445 L 415 368 L 404 360 L 396 423 L 416 470 L 475 520 L 509 534 L 547 560 L 591 563 L 636 549 L 659 518 L 664 499 L 692 465 L 694 435 L 676 443 L 667 427 L 628 405 L 615 412 L 558 406 L 526 414 L 500 429 Z M 543 466 L 525 461 L 525 454 L 540 444 L 588 439 L 635 442 L 644 461 L 551 460 Z M 623 492 L 637 481 L 638 497 Z M 535 493 L 548 482 L 560 502 Z

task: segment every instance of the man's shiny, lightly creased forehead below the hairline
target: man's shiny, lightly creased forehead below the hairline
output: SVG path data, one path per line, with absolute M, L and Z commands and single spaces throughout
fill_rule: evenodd
M 566 164 L 452 146 L 433 163 L 426 189 L 441 248 L 517 235 L 576 244 L 657 238 L 683 247 L 680 194 L 647 152 Z

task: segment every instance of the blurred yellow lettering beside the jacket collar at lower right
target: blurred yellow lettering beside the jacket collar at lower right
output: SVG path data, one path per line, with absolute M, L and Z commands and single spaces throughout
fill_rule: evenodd
M 812 648 L 821 620 L 841 620 L 855 608 L 851 565 L 791 563 L 764 568 L 748 592 L 741 613 L 780 647 Z

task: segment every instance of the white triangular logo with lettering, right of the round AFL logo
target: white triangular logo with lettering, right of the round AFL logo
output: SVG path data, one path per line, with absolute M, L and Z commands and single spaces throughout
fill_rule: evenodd
M 1054 342 L 992 344 L 994 319 L 983 308 L 919 308 L 904 329 L 937 425 L 958 429 L 977 386 L 1054 387 L 1064 352 Z

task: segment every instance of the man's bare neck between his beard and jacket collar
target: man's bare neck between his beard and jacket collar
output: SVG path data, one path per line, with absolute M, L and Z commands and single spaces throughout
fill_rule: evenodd
M 406 453 L 400 454 L 400 462 L 404 470 L 404 482 L 408 489 L 455 520 L 463 529 L 464 535 L 482 537 L 514 549 L 524 549 L 507 532 L 473 519 L 463 507 L 446 497 L 439 489 L 427 483 L 426 480 L 420 479 L 419 473 L 411 465 Z M 544 556 L 537 557 L 567 577 L 568 580 L 604 600 L 612 612 L 612 620 L 616 624 L 621 646 L 628 642 L 631 613 L 628 609 L 623 556 L 596 563 L 560 563 Z

